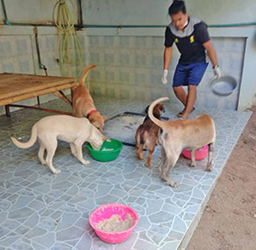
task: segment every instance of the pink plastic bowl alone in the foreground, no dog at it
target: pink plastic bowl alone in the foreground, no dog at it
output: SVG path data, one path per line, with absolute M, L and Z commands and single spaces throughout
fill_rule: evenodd
M 120 232 L 106 232 L 95 227 L 95 224 L 99 223 L 100 221 L 104 221 L 105 219 L 109 219 L 113 214 L 119 214 L 123 221 L 125 220 L 126 215 L 130 214 L 132 219 L 134 219 L 132 227 Z M 102 241 L 111 244 L 120 243 L 128 239 L 138 221 L 139 217 L 134 209 L 124 204 L 117 203 L 102 205 L 95 209 L 89 217 L 90 225 L 96 232 L 97 236 L 99 236 Z

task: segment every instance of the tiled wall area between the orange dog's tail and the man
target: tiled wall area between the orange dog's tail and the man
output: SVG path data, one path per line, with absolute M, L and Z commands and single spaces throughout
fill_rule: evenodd
M 86 64 L 95 94 L 154 100 L 169 91 L 159 81 L 163 68 L 163 38 L 86 36 Z M 169 95 L 169 93 L 168 93 Z

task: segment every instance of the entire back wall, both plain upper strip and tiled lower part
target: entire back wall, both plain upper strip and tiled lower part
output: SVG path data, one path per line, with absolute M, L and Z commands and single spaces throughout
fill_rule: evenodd
M 56 2 L 8 0 L 5 3 L 10 22 L 50 23 L 53 6 Z M 83 23 L 166 26 L 170 22 L 167 15 L 170 3 L 166 0 L 144 0 L 139 4 L 136 0 L 82 0 Z M 77 3 L 75 2 L 75 4 Z M 243 3 L 238 0 L 211 2 L 188 0 L 186 6 L 189 14 L 203 19 L 208 24 L 256 21 L 253 14 L 253 9 L 256 7 L 254 0 L 245 0 Z M 0 8 L 0 23 L 4 23 L 2 8 Z M 215 95 L 209 97 L 211 92 L 207 90 L 207 83 L 212 76 L 209 66 L 200 88 L 198 88 L 201 93 L 199 95 L 201 98 L 198 98 L 197 101 L 198 105 L 212 107 L 211 102 L 205 103 L 206 100 L 212 100 L 212 103 L 215 105 L 218 103 L 218 107 L 222 108 L 245 109 L 250 107 L 256 93 L 256 76 L 253 68 L 256 58 L 255 26 L 209 28 L 209 32 L 218 53 L 221 70 L 233 75 L 240 88 L 226 98 Z M 38 28 L 38 34 L 42 62 L 48 67 L 49 75 L 61 75 L 55 61 L 56 29 Z M 83 66 L 90 63 L 98 65 L 90 72 L 87 79 L 92 81 L 94 95 L 117 98 L 143 96 L 145 100 L 150 101 L 168 93 L 171 96 L 171 101 L 177 102 L 171 86 L 163 86 L 160 81 L 163 68 L 164 28 L 122 28 L 118 30 L 115 28 L 87 28 L 78 31 L 77 34 L 85 51 Z M 145 41 L 146 46 L 144 45 Z M 99 48 L 97 48 L 97 42 L 99 42 Z M 169 69 L 171 74 L 178 56 L 178 52 L 174 51 L 174 58 Z M 13 71 L 44 74 L 37 64 L 33 27 L 0 25 L 0 57 L 1 73 Z M 73 73 L 76 70 L 73 68 Z M 171 74 L 169 75 L 170 81 Z M 103 83 L 104 81 L 105 83 Z M 50 98 L 53 97 L 46 95 L 43 97 L 43 101 Z M 24 102 L 35 103 L 33 100 Z M 0 113 L 3 113 L 1 107 Z

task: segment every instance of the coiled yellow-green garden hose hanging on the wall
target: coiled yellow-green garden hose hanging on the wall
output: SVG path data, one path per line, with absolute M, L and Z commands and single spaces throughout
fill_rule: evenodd
M 65 0 L 57 1 L 53 8 L 53 22 L 58 28 L 58 44 L 56 49 L 56 61 L 60 65 L 61 72 L 70 76 L 70 67 L 77 66 L 76 77 L 82 72 L 83 49 L 75 32 L 76 11 L 75 4 L 69 0 L 73 8 L 73 17 Z M 67 68 L 64 66 L 67 65 Z

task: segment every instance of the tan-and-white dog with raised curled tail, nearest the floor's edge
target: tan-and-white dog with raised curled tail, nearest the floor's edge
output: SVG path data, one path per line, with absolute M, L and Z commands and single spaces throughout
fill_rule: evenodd
M 161 128 L 159 142 L 161 144 L 161 162 L 159 170 L 163 180 L 171 187 L 178 187 L 169 178 L 171 169 L 176 164 L 184 148 L 191 150 L 191 167 L 196 166 L 195 150 L 209 145 L 207 171 L 212 171 L 211 161 L 215 145 L 216 131 L 213 119 L 206 114 L 201 114 L 195 120 L 169 120 L 163 122 L 152 114 L 152 110 L 159 102 L 168 100 L 168 97 L 159 98 L 149 107 L 149 118 Z

